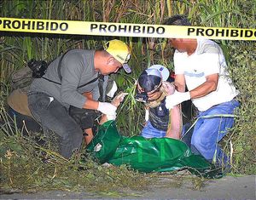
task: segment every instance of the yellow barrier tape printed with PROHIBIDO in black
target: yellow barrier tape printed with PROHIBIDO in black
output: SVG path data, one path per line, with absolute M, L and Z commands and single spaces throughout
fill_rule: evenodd
M 119 37 L 256 40 L 256 29 L 0 18 L 0 31 Z

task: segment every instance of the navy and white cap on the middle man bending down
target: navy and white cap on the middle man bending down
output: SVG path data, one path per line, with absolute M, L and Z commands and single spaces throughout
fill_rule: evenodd
M 148 93 L 159 88 L 162 81 L 167 80 L 169 74 L 170 72 L 165 66 L 150 66 L 138 77 L 137 83 L 144 92 Z

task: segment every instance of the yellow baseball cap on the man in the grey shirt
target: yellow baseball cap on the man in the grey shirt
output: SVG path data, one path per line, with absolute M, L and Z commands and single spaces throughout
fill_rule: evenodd
M 127 64 L 131 54 L 128 46 L 124 42 L 117 39 L 110 40 L 104 45 L 104 50 L 108 54 L 111 54 L 115 60 L 118 60 L 127 73 L 131 73 L 131 68 Z

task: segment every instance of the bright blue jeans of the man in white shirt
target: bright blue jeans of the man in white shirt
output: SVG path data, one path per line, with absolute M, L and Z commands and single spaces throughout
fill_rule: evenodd
M 191 151 L 201 154 L 212 162 L 216 159 L 216 164 L 228 163 L 229 159 L 218 146 L 218 141 L 222 140 L 234 124 L 234 117 L 210 117 L 211 115 L 234 114 L 236 107 L 239 106 L 237 100 L 230 100 L 217 106 L 212 106 L 207 111 L 198 114 L 198 121 L 191 138 Z

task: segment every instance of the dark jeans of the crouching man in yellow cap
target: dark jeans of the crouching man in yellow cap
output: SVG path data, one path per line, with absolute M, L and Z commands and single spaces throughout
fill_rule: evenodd
M 62 106 L 59 101 L 55 99 L 50 101 L 48 94 L 30 92 L 28 107 L 33 117 L 42 124 L 44 132 L 50 129 L 58 134 L 63 157 L 69 158 L 74 150 L 79 150 L 83 130 L 73 117 L 69 116 L 66 107 Z

